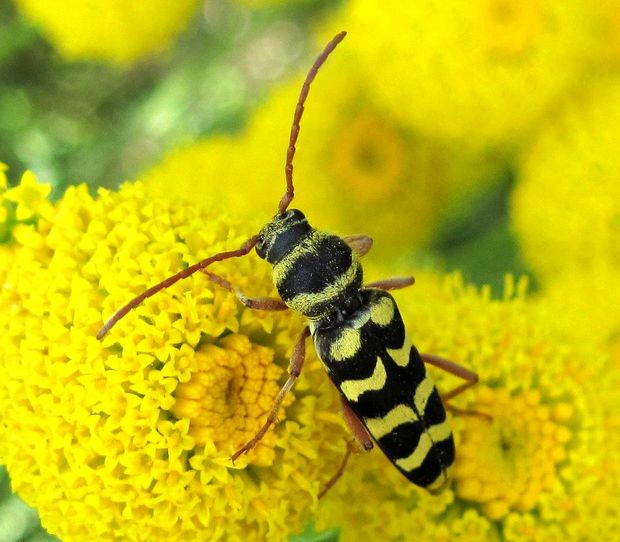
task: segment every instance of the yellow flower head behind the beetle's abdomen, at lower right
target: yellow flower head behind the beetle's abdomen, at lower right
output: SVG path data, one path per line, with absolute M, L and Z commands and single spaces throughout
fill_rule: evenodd
M 620 476 L 609 463 L 620 443 L 605 414 L 618 403 L 611 368 L 597 350 L 567 341 L 524 289 L 509 280 L 504 299 L 493 300 L 458 276 L 422 275 L 397 293 L 420 351 L 478 372 L 481 383 L 454 406 L 492 419 L 450 415 L 454 481 L 438 497 L 412 487 L 379 452 L 353 457 L 321 502 L 320 527 L 341 526 L 343 542 L 411 533 L 446 542 L 615 539 Z M 431 371 L 440 391 L 460 382 Z

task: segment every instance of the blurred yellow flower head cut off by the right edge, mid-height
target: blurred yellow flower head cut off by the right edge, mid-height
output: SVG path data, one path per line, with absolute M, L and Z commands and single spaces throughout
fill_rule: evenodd
M 513 217 L 523 252 L 549 279 L 592 264 L 620 265 L 620 79 L 566 104 L 521 161 Z

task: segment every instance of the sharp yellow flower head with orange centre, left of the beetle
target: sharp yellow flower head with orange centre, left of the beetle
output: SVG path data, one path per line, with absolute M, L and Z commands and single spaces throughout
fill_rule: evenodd
M 0 259 L 0 461 L 63 542 L 286 540 L 337 470 L 346 433 L 310 345 L 281 421 L 230 461 L 283 383 L 299 318 L 247 310 L 198 273 L 95 338 L 145 287 L 258 229 L 236 222 L 134 184 L 70 188 L 15 226 Z M 269 295 L 263 263 L 213 270 Z

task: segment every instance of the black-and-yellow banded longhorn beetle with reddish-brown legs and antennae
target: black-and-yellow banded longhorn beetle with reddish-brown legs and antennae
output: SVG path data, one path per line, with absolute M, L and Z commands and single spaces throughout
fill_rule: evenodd
M 309 322 L 293 348 L 289 377 L 260 431 L 233 454 L 232 460 L 251 450 L 276 420 L 284 396 L 301 372 L 305 341 L 312 335 L 316 352 L 340 392 L 344 418 L 358 446 L 370 450 L 374 440 L 410 481 L 438 493 L 449 482 L 454 440 L 446 420 L 449 407 L 442 403 L 424 362 L 465 380 L 444 394 L 443 401 L 473 385 L 477 375 L 438 356 L 420 355 L 411 344 L 388 290 L 413 284 L 412 277 L 363 285 L 359 257 L 370 250 L 370 237 L 340 238 L 314 229 L 301 211 L 287 210 L 294 196 L 293 158 L 310 84 L 345 35 L 340 32 L 326 45 L 301 87 L 286 155 L 286 192 L 278 213 L 238 249 L 210 256 L 145 290 L 118 310 L 99 330 L 97 338 L 101 339 L 146 298 L 197 271 L 234 293 L 247 307 L 297 311 Z M 243 257 L 253 248 L 273 266 L 273 281 L 281 299 L 247 297 L 207 269 L 215 262 Z M 349 444 L 340 469 L 321 494 L 342 474 L 354 448 Z

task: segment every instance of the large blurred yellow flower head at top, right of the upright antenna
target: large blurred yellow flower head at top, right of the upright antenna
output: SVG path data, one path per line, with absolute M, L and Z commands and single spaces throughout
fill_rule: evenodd
M 394 117 L 485 144 L 520 138 L 579 81 L 594 54 L 590 17 L 580 0 L 353 0 L 338 26 Z

